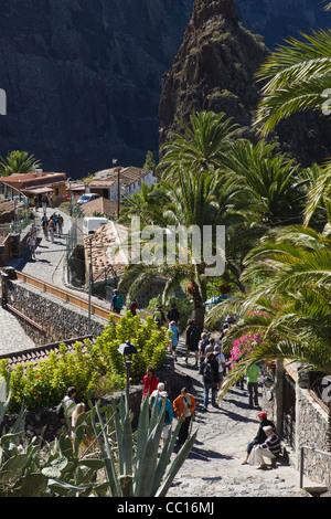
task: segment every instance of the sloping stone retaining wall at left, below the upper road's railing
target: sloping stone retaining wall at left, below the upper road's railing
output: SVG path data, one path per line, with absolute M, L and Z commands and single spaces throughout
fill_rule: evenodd
M 20 280 L 8 282 L 8 304 L 42 327 L 42 331 L 20 319 L 26 335 L 36 343 L 88 335 L 88 313 Z M 92 315 L 90 335 L 99 336 L 107 322 Z

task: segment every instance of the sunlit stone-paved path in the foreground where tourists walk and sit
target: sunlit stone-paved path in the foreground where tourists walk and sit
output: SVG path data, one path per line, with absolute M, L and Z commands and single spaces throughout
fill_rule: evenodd
M 250 410 L 246 390 L 233 386 L 220 403 L 202 412 L 202 377 L 184 363 L 183 345 L 179 348 L 175 371 L 192 380 L 190 391 L 196 399 L 197 441 L 178 474 L 168 497 L 308 497 L 299 487 L 299 472 L 281 464 L 260 470 L 242 465 L 247 443 L 258 428 L 258 410 Z M 245 384 L 246 386 L 246 384 Z M 305 485 L 309 481 L 305 478 Z

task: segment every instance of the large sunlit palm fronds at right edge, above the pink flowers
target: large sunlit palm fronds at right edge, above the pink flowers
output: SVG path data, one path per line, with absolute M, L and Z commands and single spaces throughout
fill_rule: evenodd
M 227 347 L 245 332 L 264 340 L 231 372 L 225 391 L 248 366 L 267 359 L 331 374 L 331 239 L 300 225 L 273 230 L 247 255 L 242 277 L 260 282 L 239 303 Z

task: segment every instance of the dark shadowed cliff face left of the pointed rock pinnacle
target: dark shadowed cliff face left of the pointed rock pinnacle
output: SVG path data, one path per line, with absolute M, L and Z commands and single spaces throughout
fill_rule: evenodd
M 24 149 L 73 177 L 142 165 L 191 14 L 191 0 L 1 0 L 0 155 Z

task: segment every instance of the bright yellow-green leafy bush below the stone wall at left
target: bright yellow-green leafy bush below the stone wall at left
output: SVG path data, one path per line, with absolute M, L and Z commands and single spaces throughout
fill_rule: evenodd
M 131 378 L 139 382 L 147 366 L 159 369 L 166 360 L 169 343 L 167 329 L 158 330 L 152 317 L 141 322 L 139 316 L 127 313 L 119 322 L 109 317 L 104 332 L 95 343 L 85 340 L 76 342 L 74 352 L 64 343 L 60 352 L 50 353 L 47 360 L 36 366 L 19 364 L 10 370 L 7 360 L 0 361 L 0 375 L 8 379 L 10 374 L 11 401 L 10 411 L 17 411 L 22 402 L 28 409 L 56 405 L 70 385 L 77 390 L 77 399 L 86 400 L 87 394 L 100 395 L 103 385 L 113 391 L 125 384 L 126 371 L 124 358 L 118 352 L 119 345 L 130 339 L 137 347 L 134 356 Z M 105 385 L 105 381 L 106 385 Z

